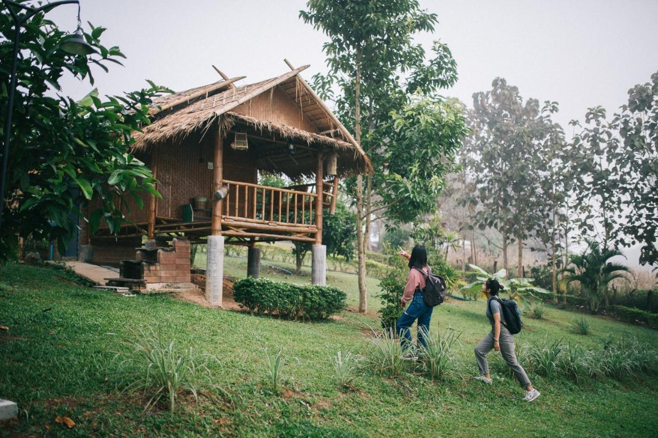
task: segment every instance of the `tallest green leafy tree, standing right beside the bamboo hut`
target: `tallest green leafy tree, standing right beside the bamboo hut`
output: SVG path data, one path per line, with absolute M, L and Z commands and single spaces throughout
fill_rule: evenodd
M 317 76 L 315 86 L 324 90 L 324 97 L 334 97 L 338 115 L 347 126 L 353 127 L 357 142 L 368 153 L 376 169 L 374 174 L 366 176 L 365 186 L 363 176 L 357 176 L 352 192 L 357 208 L 359 310 L 365 312 L 365 249 L 372 215 L 387 215 L 393 220 L 409 222 L 410 216 L 412 219 L 417 216 L 418 208 L 426 206 L 419 199 L 422 187 L 429 183 L 430 191 L 426 195 L 431 196 L 436 194 L 432 189 L 440 189 L 441 185 L 440 178 L 420 183 L 422 172 L 415 172 L 418 166 L 408 167 L 422 155 L 420 149 L 423 148 L 418 145 L 423 143 L 413 145 L 411 157 L 407 157 L 401 146 L 388 135 L 423 137 L 417 129 L 415 133 L 401 132 L 403 128 L 409 128 L 404 123 L 405 117 L 413 118 L 409 111 L 430 109 L 422 99 L 410 103 L 411 94 L 418 89 L 430 94 L 440 87 L 454 84 L 456 63 L 447 46 L 438 42 L 432 48 L 432 59 L 427 62 L 423 47 L 413 42 L 417 32 L 431 32 L 437 22 L 436 14 L 421 10 L 416 0 L 310 0 L 307 8 L 308 11 L 300 11 L 301 18 L 322 30 L 330 39 L 324 45 L 329 73 L 328 76 Z M 338 95 L 331 93 L 332 85 L 340 89 Z M 443 122 L 444 127 L 452 124 L 455 130 L 447 130 L 447 137 L 432 141 L 432 144 L 447 146 L 445 149 L 449 155 L 454 142 L 449 135 L 463 130 L 463 124 L 458 112 L 447 109 L 443 103 L 438 101 L 438 107 L 431 110 L 431 121 L 436 122 L 436 116 L 443 112 L 442 116 L 452 116 L 453 119 L 439 122 Z M 402 112 L 404 105 L 408 107 Z M 392 110 L 402 115 L 397 119 L 400 120 L 397 126 L 388 123 Z M 422 126 L 432 130 L 428 124 Z M 409 147 L 409 143 L 405 146 Z M 436 148 L 432 152 L 436 153 Z M 441 156 L 430 158 L 436 162 L 436 157 Z M 411 198 L 405 199 L 407 193 Z M 411 205 L 405 206 L 405 203 Z

